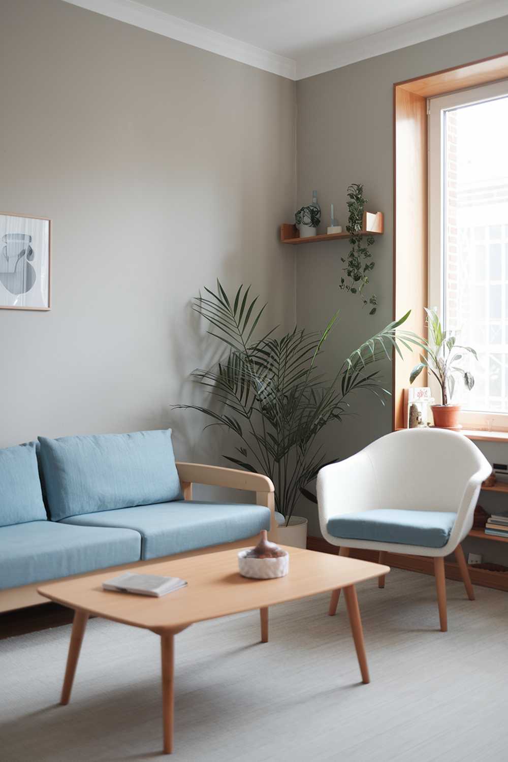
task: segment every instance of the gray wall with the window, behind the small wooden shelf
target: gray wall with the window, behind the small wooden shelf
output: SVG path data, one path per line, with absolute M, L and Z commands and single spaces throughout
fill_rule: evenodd
M 358 298 L 338 290 L 343 267 L 340 255 L 347 255 L 347 241 L 309 244 L 296 251 L 299 325 L 322 328 L 340 309 L 340 323 L 326 345 L 323 365 L 327 370 L 333 370 L 358 344 L 392 319 L 394 82 L 505 53 L 506 40 L 508 16 L 296 83 L 299 206 L 308 202 L 312 189 L 317 188 L 324 211 L 322 232 L 329 224 L 331 202 L 335 203 L 340 223 L 345 225 L 347 186 L 363 182 L 369 210 L 385 213 L 385 235 L 376 239 L 373 247 L 376 264 L 372 286 L 379 298 L 374 317 L 362 308 Z M 390 388 L 388 363 L 385 382 Z M 359 417 L 352 415 L 327 430 L 324 441 L 330 458 L 355 453 L 391 431 L 389 401 L 382 408 L 375 398 L 358 396 L 352 408 Z M 508 446 L 495 447 L 496 458 L 508 463 Z M 315 508 L 302 500 L 299 513 L 308 515 L 309 532 L 318 534 Z M 490 546 L 495 544 L 499 543 Z

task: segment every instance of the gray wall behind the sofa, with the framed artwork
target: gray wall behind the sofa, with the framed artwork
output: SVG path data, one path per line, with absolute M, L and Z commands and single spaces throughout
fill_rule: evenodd
M 2 0 L 0 210 L 53 218 L 53 309 L 0 310 L 0 447 L 166 427 L 214 356 L 190 299 L 253 283 L 295 320 L 295 84 L 59 0 Z M 224 461 L 222 461 L 224 463 Z

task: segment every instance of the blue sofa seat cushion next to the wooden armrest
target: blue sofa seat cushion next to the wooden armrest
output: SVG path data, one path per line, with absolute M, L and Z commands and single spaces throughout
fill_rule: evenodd
M 65 524 L 123 527 L 141 534 L 142 559 L 158 559 L 188 550 L 254 536 L 270 529 L 270 509 L 263 505 L 172 501 L 101 511 L 64 519 Z

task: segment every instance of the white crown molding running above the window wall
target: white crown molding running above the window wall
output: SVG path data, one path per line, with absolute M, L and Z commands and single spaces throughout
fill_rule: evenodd
M 383 53 L 390 53 L 410 45 L 443 37 L 460 29 L 474 27 L 484 21 L 508 15 L 508 0 L 469 0 L 454 8 L 399 24 L 397 27 L 361 37 L 349 43 L 327 46 L 322 50 L 300 56 L 296 62 L 296 79 L 340 69 L 350 63 L 363 61 Z

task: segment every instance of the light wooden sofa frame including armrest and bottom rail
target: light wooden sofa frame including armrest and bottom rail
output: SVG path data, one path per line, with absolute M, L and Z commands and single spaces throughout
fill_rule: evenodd
M 180 483 L 182 492 L 184 494 L 184 500 L 192 500 L 192 487 L 193 484 L 203 484 L 212 487 L 228 487 L 232 489 L 243 489 L 256 493 L 256 504 L 266 505 L 270 508 L 270 531 L 268 536 L 273 541 L 276 540 L 277 523 L 275 520 L 275 494 L 273 482 L 267 476 L 263 474 L 255 474 L 249 471 L 241 471 L 240 469 L 228 469 L 222 466 L 205 466 L 200 463 L 179 463 L 177 462 L 178 475 L 180 477 Z M 135 561 L 130 564 L 122 564 L 120 566 L 110 566 L 110 571 L 113 573 L 118 569 L 136 568 L 145 566 L 147 564 L 160 562 L 165 559 L 186 559 L 192 555 L 203 555 L 203 553 L 215 553 L 219 550 L 227 550 L 231 548 L 243 548 L 245 546 L 255 544 L 254 540 L 257 538 L 247 537 L 236 541 L 235 543 L 222 543 L 222 545 L 213 545 L 207 548 L 200 548 L 191 550 L 185 553 L 177 553 L 176 555 L 167 555 L 159 559 L 151 559 L 150 561 Z M 69 575 L 67 579 L 78 579 L 80 577 L 87 577 L 94 574 L 101 574 L 104 569 L 96 569 L 94 571 L 88 571 L 86 574 Z M 56 580 L 45 580 L 46 582 L 53 582 Z M 8 588 L 7 590 L 0 590 L 0 613 L 4 611 L 11 611 L 14 609 L 21 609 L 26 606 L 36 606 L 37 604 L 47 604 L 47 598 L 37 593 L 37 588 L 43 581 L 33 582 L 31 584 L 24 584 L 20 588 Z

